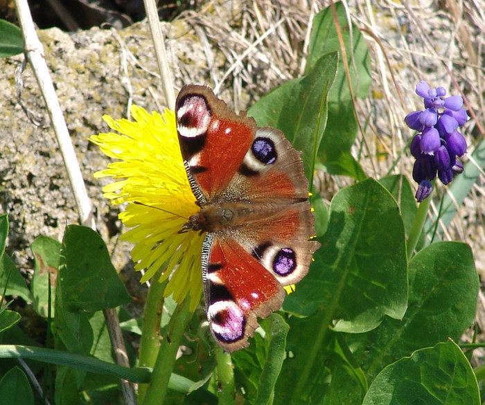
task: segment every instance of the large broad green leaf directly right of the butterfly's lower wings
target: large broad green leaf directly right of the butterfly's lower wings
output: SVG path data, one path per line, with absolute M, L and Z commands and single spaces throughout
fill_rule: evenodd
M 341 190 L 310 272 L 283 308 L 308 316 L 319 310 L 341 332 L 367 332 L 382 318 L 401 318 L 407 305 L 407 259 L 396 201 L 372 179 Z M 315 327 L 315 325 L 308 325 Z

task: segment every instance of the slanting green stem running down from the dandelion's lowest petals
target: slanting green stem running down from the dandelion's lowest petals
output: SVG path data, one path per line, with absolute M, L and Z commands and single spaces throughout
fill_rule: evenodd
M 152 372 L 152 379 L 146 390 L 143 405 L 161 405 L 164 403 L 168 389 L 168 380 L 175 365 L 175 356 L 188 321 L 191 319 L 190 301 L 190 298 L 187 297 L 183 303 L 177 305 L 172 318 L 168 322 L 167 333 L 165 339 L 161 341 L 155 368 Z

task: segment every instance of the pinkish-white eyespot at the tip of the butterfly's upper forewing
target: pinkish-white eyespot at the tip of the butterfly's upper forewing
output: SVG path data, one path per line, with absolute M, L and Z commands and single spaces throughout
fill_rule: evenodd
M 187 96 L 179 100 L 177 130 L 183 138 L 197 138 L 206 134 L 212 113 L 202 96 Z

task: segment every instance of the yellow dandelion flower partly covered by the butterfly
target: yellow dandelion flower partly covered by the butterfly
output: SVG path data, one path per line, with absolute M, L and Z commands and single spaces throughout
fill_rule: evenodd
M 189 295 L 195 309 L 202 295 L 200 251 L 203 237 L 196 232 L 179 233 L 190 215 L 197 213 L 195 197 L 188 183 L 180 153 L 174 111 L 149 114 L 136 105 L 131 109 L 134 122 L 103 119 L 115 134 L 98 134 L 89 141 L 113 159 L 107 169 L 94 177 L 113 177 L 103 188 L 112 204 L 127 202 L 119 218 L 131 228 L 123 240 L 135 244 L 135 269 L 145 269 L 141 282 L 164 266 L 160 282 L 170 278 L 165 295 L 177 302 Z

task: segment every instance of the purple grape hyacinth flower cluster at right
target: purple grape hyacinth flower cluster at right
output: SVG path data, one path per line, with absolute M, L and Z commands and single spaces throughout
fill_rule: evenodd
M 413 111 L 404 118 L 405 123 L 418 133 L 411 141 L 410 150 L 416 158 L 413 179 L 419 184 L 418 202 L 430 196 L 431 181 L 436 174 L 443 184 L 463 172 L 459 157 L 466 153 L 466 141 L 458 128 L 466 123 L 468 114 L 461 96 L 446 96 L 443 87 L 432 89 L 425 81 L 416 86 L 416 94 L 423 97 L 425 110 Z

